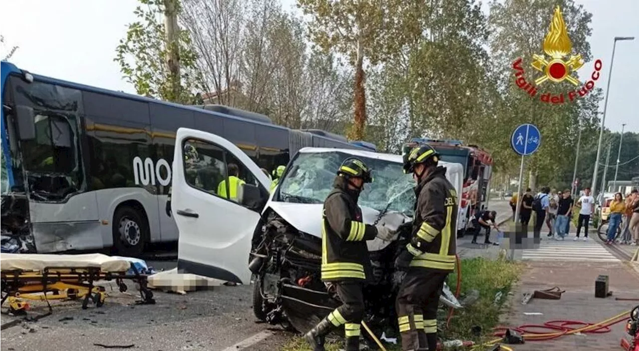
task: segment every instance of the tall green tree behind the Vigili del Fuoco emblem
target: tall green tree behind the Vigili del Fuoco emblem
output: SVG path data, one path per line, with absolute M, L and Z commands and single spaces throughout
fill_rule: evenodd
M 491 28 L 491 56 L 501 67 L 510 67 L 516 58 L 523 58 L 527 81 L 534 81 L 538 72 L 530 67 L 533 54 L 542 54 L 542 43 L 548 33 L 555 6 L 560 6 L 566 22 L 573 53 L 581 54 L 587 65 L 592 66 L 590 45 L 590 22 L 592 14 L 577 5 L 573 0 L 506 0 L 493 1 L 490 4 L 489 24 Z M 585 81 L 584 81 L 585 82 Z M 583 84 L 583 83 L 582 83 Z M 563 180 L 567 169 L 572 169 L 578 128 L 584 135 L 593 133 L 597 123 L 597 107 L 601 100 L 601 90 L 590 91 L 589 95 L 576 103 L 547 104 L 528 97 L 514 84 L 511 69 L 498 74 L 498 89 L 509 111 L 498 114 L 498 123 L 512 129 L 520 123 L 534 123 L 542 134 L 539 152 L 527 157 L 528 186 L 535 187 L 537 176 L 544 184 Z M 576 90 L 576 87 L 564 81 L 546 82 L 539 86 L 539 92 L 558 93 Z M 505 140 L 509 140 L 504 136 Z M 504 143 L 504 148 L 509 145 Z M 511 157 L 516 157 L 511 153 Z M 514 162 L 508 162 L 510 164 Z

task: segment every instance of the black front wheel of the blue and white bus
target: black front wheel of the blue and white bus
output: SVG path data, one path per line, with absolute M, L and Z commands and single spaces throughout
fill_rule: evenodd
M 113 246 L 121 256 L 140 256 L 148 238 L 144 216 L 134 208 L 123 206 L 113 215 Z

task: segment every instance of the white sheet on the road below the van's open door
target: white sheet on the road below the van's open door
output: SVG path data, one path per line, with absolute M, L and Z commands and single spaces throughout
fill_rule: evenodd
M 219 279 L 196 276 L 195 274 L 178 273 L 178 269 L 165 270 L 151 274 L 148 277 L 148 286 L 151 289 L 164 290 L 165 292 L 187 293 L 198 288 L 212 288 L 225 282 Z

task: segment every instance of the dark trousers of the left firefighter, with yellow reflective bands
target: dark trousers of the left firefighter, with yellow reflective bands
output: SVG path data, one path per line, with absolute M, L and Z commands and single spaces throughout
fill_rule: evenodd
M 336 281 L 333 285 L 343 304 L 328 315 L 328 320 L 335 327 L 344 325 L 346 350 L 359 350 L 360 324 L 364 318 L 364 282 Z

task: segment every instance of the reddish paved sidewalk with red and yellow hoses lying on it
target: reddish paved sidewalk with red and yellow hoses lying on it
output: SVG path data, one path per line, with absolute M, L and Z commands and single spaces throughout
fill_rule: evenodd
M 624 263 L 602 262 L 547 262 L 530 261 L 520 283 L 514 289 L 511 311 L 504 320 L 505 326 L 544 324 L 551 320 L 574 320 L 597 323 L 632 309 L 639 302 L 618 301 L 615 297 L 639 298 L 639 276 Z M 606 299 L 594 297 L 595 280 L 600 274 L 609 277 L 609 290 L 613 295 Z M 522 293 L 534 292 L 558 286 L 566 290 L 560 300 L 531 299 L 521 304 Z M 542 313 L 543 315 L 525 315 Z M 580 326 L 576 326 L 578 328 Z M 619 348 L 620 338 L 627 338 L 625 322 L 610 327 L 603 334 L 562 336 L 551 341 L 528 341 L 524 345 L 511 345 L 516 351 L 610 351 Z M 535 332 L 551 332 L 534 329 Z

